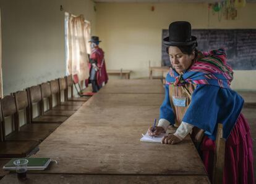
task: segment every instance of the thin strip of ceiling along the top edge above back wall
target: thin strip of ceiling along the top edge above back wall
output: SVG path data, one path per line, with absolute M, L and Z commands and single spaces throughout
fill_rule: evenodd
M 94 0 L 94 2 L 219 2 L 219 0 Z M 256 2 L 256 0 L 246 0 Z

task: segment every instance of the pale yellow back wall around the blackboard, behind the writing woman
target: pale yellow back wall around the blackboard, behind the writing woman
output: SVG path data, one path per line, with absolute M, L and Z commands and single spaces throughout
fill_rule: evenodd
M 155 11 L 151 11 L 155 6 Z M 237 20 L 218 21 L 205 3 L 101 3 L 96 30 L 109 70 L 132 70 L 131 78 L 148 77 L 148 60 L 161 65 L 161 33 L 169 23 L 187 20 L 192 28 L 256 28 L 256 4 L 238 10 Z M 235 71 L 234 89 L 256 90 L 256 71 Z

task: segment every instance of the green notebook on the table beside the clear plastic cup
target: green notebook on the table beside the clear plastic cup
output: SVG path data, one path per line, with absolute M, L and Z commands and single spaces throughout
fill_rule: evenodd
M 14 161 L 19 158 L 13 158 L 9 161 L 2 169 L 4 170 L 15 170 L 16 167 L 14 165 Z M 28 160 L 27 170 L 45 170 L 48 167 L 49 162 L 51 162 L 50 158 L 25 158 Z

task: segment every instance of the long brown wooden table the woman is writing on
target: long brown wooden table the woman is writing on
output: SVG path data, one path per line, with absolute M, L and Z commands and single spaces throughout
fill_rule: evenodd
M 133 89 L 130 81 L 134 80 L 121 81 L 123 89 L 117 85 L 120 91 L 129 86 Z M 135 85 L 139 83 L 134 81 Z M 148 80 L 142 81 L 141 89 L 145 83 L 150 84 Z M 111 89 L 109 82 L 102 90 L 112 92 L 116 87 Z M 30 181 L 209 183 L 189 136 L 178 145 L 140 142 L 141 134 L 159 116 L 164 98 L 161 90 L 153 94 L 103 92 L 93 95 L 40 144 L 35 157 L 50 157 L 58 164 L 51 164 L 44 171 L 30 172 Z M 15 174 L 0 180 L 0 183 L 17 182 Z

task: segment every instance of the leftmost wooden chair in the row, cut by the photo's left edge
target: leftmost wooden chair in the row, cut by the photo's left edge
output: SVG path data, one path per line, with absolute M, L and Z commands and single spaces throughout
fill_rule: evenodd
M 5 98 L 4 102 L 1 100 L 1 106 L 7 106 L 7 101 L 12 100 L 10 96 Z M 14 99 L 13 99 L 14 100 Z M 4 118 L 10 116 L 14 119 L 13 114 L 16 111 L 14 105 L 7 106 L 6 109 L 1 108 L 0 124 L 1 124 L 1 141 L 0 141 L 0 158 L 19 158 L 26 157 L 38 146 L 39 142 L 36 141 L 6 141 L 6 130 Z M 2 116 L 3 115 L 3 116 Z M 12 120 L 14 121 L 14 120 Z

